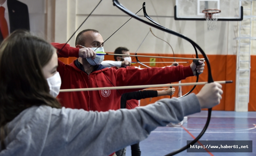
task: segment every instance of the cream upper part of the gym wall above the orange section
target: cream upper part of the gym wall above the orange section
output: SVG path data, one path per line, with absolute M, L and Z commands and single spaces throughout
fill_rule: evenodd
M 166 28 L 186 35 L 201 46 L 206 54 L 236 54 L 237 43 L 233 38 L 237 37 L 238 22 L 219 21 L 217 31 L 207 31 L 206 21 L 175 21 L 173 17 L 175 0 L 120 0 L 120 3 L 136 13 L 142 8 L 144 1 L 149 16 L 171 16 L 152 17 L 153 20 Z M 98 2 L 98 0 L 56 0 L 55 42 L 66 42 Z M 143 10 L 138 15 L 142 16 Z M 103 0 L 79 31 L 99 30 L 105 40 L 129 18 L 113 6 L 112 0 Z M 141 18 L 147 20 L 145 17 Z M 158 37 L 166 39 L 173 46 L 175 53 L 194 54 L 193 47 L 187 41 L 154 28 L 152 30 Z M 113 52 L 116 47 L 125 46 L 131 52 L 135 52 L 148 31 L 148 25 L 131 19 L 104 44 L 104 49 L 107 52 Z M 74 42 L 75 37 L 69 43 L 75 46 Z M 165 42 L 149 34 L 138 52 L 169 54 L 171 49 Z

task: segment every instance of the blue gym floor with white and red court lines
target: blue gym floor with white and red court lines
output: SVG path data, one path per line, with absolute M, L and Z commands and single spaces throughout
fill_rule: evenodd
M 205 126 L 207 111 L 189 115 L 183 127 L 158 127 L 140 142 L 142 156 L 164 156 L 193 140 Z M 189 134 L 190 133 L 190 134 Z M 256 112 L 212 111 L 210 125 L 200 140 L 252 140 L 252 153 L 187 153 L 177 156 L 255 156 Z M 127 147 L 126 156 L 131 156 Z

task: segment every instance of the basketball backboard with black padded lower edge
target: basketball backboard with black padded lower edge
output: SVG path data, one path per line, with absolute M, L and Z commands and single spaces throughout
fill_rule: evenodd
M 221 10 L 216 16 L 218 21 L 243 20 L 241 0 L 176 0 L 175 20 L 205 20 L 205 9 Z

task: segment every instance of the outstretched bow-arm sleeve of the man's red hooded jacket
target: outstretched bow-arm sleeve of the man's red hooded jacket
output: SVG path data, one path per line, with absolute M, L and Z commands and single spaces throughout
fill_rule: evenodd
M 145 69 L 120 68 L 113 72 L 115 74 L 116 86 L 167 84 L 194 76 L 190 66 Z M 137 90 L 141 89 L 125 89 L 122 92 L 127 93 Z

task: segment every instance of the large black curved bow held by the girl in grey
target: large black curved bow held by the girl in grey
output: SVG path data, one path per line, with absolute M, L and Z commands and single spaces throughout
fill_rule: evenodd
M 131 17 L 133 17 L 133 18 L 135 18 L 135 19 L 137 19 L 137 20 L 139 20 L 139 21 L 141 21 L 141 22 L 143 22 L 143 23 L 145 23 L 145 24 L 148 24 L 148 25 L 150 25 L 150 26 L 152 26 L 152 27 L 154 27 L 154 28 L 160 29 L 160 30 L 162 30 L 162 31 L 165 31 L 165 32 L 167 32 L 167 33 L 176 35 L 176 36 L 178 36 L 178 37 L 181 37 L 181 38 L 183 38 L 183 39 L 189 41 L 189 42 L 193 45 L 193 47 L 194 47 L 194 49 L 195 49 L 195 52 L 197 52 L 197 49 L 198 49 L 198 50 L 202 53 L 203 57 L 205 58 L 205 61 L 206 61 L 206 64 L 207 64 L 207 68 L 208 68 L 208 83 L 214 82 L 213 79 L 212 79 L 211 67 L 210 67 L 210 62 L 209 62 L 209 60 L 208 60 L 208 57 L 206 56 L 205 52 L 201 49 L 201 47 L 199 47 L 199 46 L 197 45 L 197 43 L 195 43 L 195 42 L 192 41 L 191 39 L 187 38 L 185 35 L 182 35 L 182 34 L 179 34 L 179 33 L 175 32 L 175 31 L 172 31 L 172 30 L 170 30 L 170 29 L 167 29 L 167 28 L 165 28 L 165 27 L 163 27 L 163 26 L 161 26 L 161 25 L 159 25 L 159 24 L 157 24 L 157 23 L 152 24 L 152 23 L 149 23 L 149 22 L 147 22 L 147 21 L 144 21 L 144 20 L 141 19 L 139 16 L 135 15 L 135 14 L 132 13 L 130 10 L 128 10 L 127 8 L 125 8 L 122 4 L 120 4 L 118 0 L 113 0 L 113 5 L 115 5 L 117 8 L 119 8 L 119 9 L 122 10 L 124 13 L 128 14 L 129 16 L 131 16 Z M 150 17 L 149 17 L 149 18 L 150 18 Z M 152 20 L 152 21 L 153 21 L 153 20 Z M 179 152 L 182 152 L 182 151 L 184 151 L 185 149 L 189 148 L 190 145 L 193 145 L 194 143 L 196 143 L 196 142 L 202 137 L 202 135 L 205 133 L 205 131 L 206 131 L 206 129 L 207 129 L 209 123 L 210 123 L 210 119 L 211 119 L 211 110 L 212 110 L 211 108 L 208 109 L 208 117 L 207 117 L 207 121 L 206 121 L 205 127 L 203 128 L 202 132 L 197 136 L 197 138 L 195 138 L 192 142 L 190 142 L 189 144 L 187 144 L 187 146 L 184 146 L 184 147 L 182 147 L 181 149 L 178 149 L 177 151 L 174 151 L 174 152 L 172 152 L 172 153 L 169 153 L 168 155 L 165 155 L 165 156 L 172 156 L 172 155 L 175 155 L 175 154 L 177 154 L 177 153 L 179 153 Z

